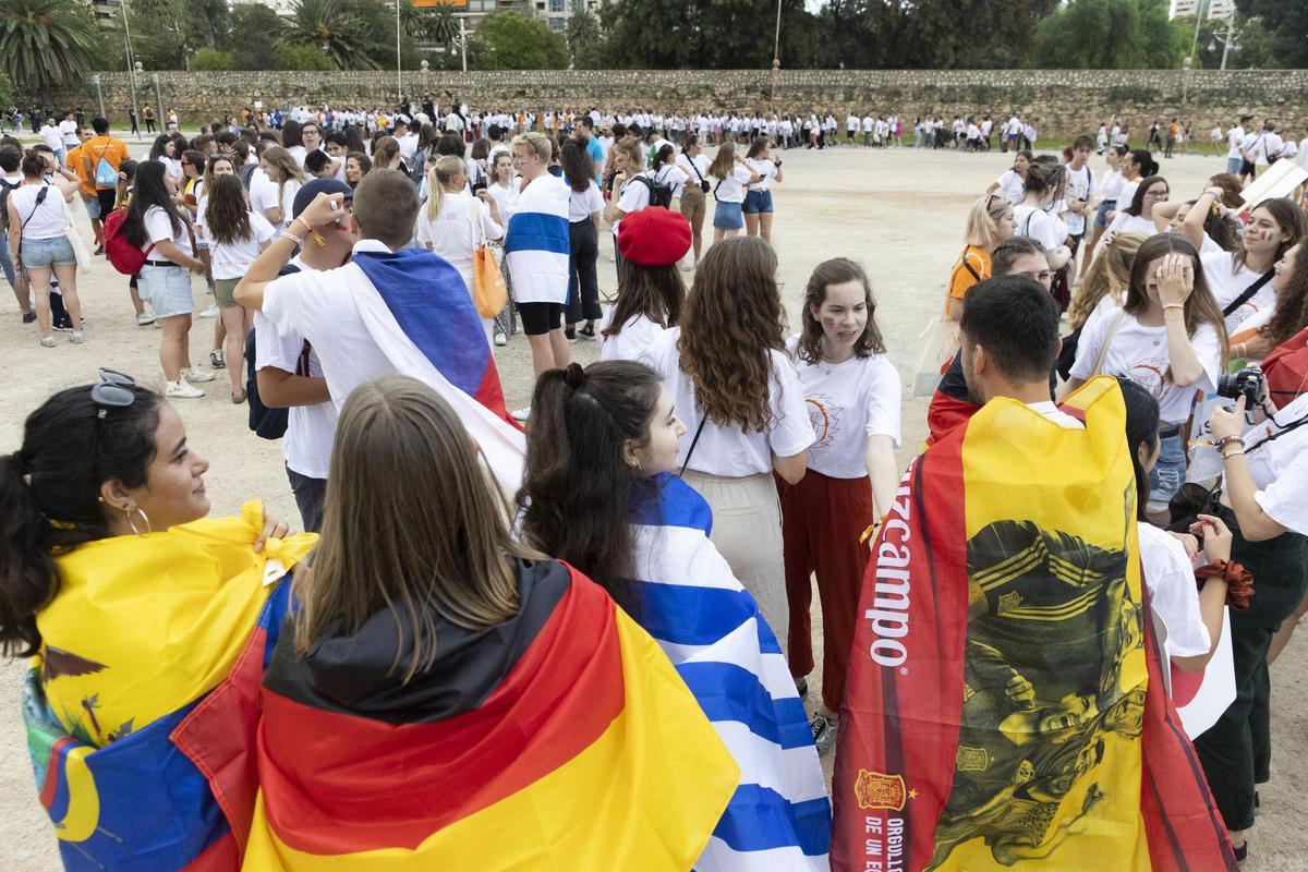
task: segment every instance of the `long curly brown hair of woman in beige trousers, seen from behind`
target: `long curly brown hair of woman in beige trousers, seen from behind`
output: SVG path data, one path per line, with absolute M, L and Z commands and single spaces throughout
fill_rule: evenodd
M 731 237 L 709 248 L 678 340 L 681 371 L 695 383 L 705 417 L 759 433 L 772 426 L 772 352 L 783 353 L 785 329 L 772 246 Z

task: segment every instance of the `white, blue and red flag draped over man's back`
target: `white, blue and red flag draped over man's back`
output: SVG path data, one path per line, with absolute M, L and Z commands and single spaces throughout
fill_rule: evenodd
M 500 373 L 459 271 L 430 251 L 400 248 L 358 251 L 336 275 L 351 286 L 387 360 L 454 408 L 501 486 L 515 492 L 526 439 L 505 408 Z

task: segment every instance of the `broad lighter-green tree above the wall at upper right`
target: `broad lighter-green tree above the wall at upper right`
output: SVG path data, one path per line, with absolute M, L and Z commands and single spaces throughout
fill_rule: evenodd
M 1073 0 L 1037 25 L 1028 65 L 1175 69 L 1186 54 L 1185 27 L 1168 21 L 1165 0 Z

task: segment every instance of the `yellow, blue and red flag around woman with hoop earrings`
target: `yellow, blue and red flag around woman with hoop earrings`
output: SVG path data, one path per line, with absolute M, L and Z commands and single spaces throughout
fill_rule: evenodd
M 24 686 L 64 868 L 235 869 L 255 797 L 259 681 L 311 533 L 251 544 L 258 502 L 58 558 Z

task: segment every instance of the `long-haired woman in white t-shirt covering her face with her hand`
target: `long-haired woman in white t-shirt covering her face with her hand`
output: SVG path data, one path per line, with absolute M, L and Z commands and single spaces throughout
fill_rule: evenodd
M 1203 278 L 1199 255 L 1175 233 L 1151 237 L 1139 247 L 1121 311 L 1090 322 L 1080 333 L 1071 378 L 1059 396 L 1108 374 L 1135 379 L 1159 401 L 1162 454 L 1150 472 L 1154 511 L 1165 509 L 1185 481 L 1181 426 L 1196 394 L 1216 390 L 1226 346 L 1222 310 Z

